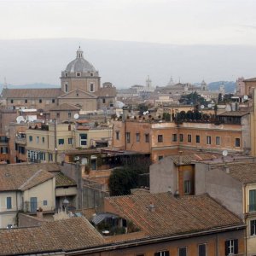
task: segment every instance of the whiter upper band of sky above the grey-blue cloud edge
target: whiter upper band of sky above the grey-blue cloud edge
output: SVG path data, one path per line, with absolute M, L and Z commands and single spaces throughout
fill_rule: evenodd
M 0 39 L 256 44 L 255 0 L 0 0 Z

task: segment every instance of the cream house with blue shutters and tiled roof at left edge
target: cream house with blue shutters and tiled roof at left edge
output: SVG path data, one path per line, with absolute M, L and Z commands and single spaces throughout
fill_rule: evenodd
M 55 176 L 38 166 L 1 166 L 0 181 L 0 228 L 17 225 L 18 211 L 55 209 Z

